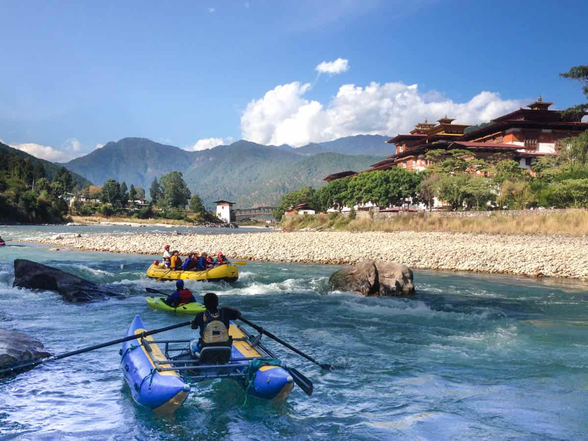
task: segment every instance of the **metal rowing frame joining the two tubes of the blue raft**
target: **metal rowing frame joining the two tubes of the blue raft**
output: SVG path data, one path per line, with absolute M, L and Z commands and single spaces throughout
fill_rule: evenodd
M 233 342 L 235 342 L 235 341 L 249 342 L 253 348 L 256 348 L 257 350 L 259 350 L 259 352 L 262 353 L 262 357 L 268 356 L 271 358 L 275 358 L 275 355 L 273 355 L 273 353 L 270 352 L 270 350 L 265 348 L 260 343 L 261 336 L 262 336 L 261 334 L 253 336 L 250 333 L 248 333 L 245 329 L 243 329 L 241 326 L 237 325 L 237 327 L 245 334 L 245 337 L 233 338 Z M 186 345 L 189 345 L 190 342 L 191 342 L 191 340 L 151 340 L 151 341 L 149 341 L 149 340 L 146 340 L 145 338 L 141 338 L 141 346 L 143 346 L 143 348 L 145 348 L 145 351 L 147 352 L 149 359 L 151 359 L 151 361 L 153 362 L 153 365 L 155 366 L 156 372 L 180 371 L 179 374 L 190 385 L 194 385 L 195 383 L 201 382 L 203 380 L 209 380 L 209 379 L 215 379 L 215 378 L 226 378 L 226 377 L 244 378 L 245 373 L 238 372 L 238 371 L 243 370 L 243 368 L 245 368 L 246 365 L 234 364 L 234 362 L 245 362 L 245 361 L 255 360 L 256 358 L 259 358 L 259 357 L 233 358 L 233 359 L 230 359 L 228 363 L 224 363 L 222 365 L 198 365 L 197 360 L 192 359 L 192 358 L 170 357 L 169 354 L 171 352 L 180 352 L 180 354 L 176 357 L 181 357 L 184 353 L 188 353 L 189 350 L 186 349 Z M 182 346 L 182 348 L 174 348 L 174 347 L 169 346 L 170 343 L 183 343 L 183 346 Z M 153 349 L 151 348 L 151 345 L 157 345 L 157 344 L 165 344 L 165 352 L 163 353 L 166 358 L 165 360 L 157 360 L 152 355 Z M 217 370 L 217 372 L 208 373 L 213 369 Z M 183 373 L 182 373 L 182 371 L 183 371 Z M 198 372 L 198 375 L 190 375 L 190 376 L 186 375 L 186 373 L 189 373 L 190 371 Z

